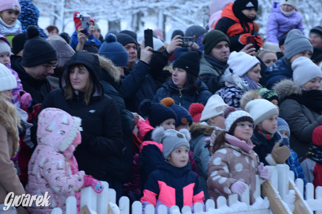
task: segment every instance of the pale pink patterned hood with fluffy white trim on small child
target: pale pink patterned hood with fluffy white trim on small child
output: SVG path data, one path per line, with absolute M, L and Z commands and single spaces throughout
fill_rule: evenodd
M 38 144 L 64 152 L 76 138 L 81 118 L 58 108 L 45 108 L 39 113 L 37 125 Z

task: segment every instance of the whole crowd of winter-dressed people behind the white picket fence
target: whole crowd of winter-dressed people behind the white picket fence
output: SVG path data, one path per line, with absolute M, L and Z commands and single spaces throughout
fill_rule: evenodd
M 304 35 L 298 0 L 212 0 L 206 27 L 160 29 L 153 48 L 130 30 L 103 38 L 75 12 L 75 32 L 37 25 L 29 0 L 0 1 L 0 209 L 6 195 L 66 198 L 109 183 L 116 199 L 177 205 L 250 189 L 268 166 L 322 185 L 322 27 Z M 81 26 L 87 17 L 88 29 Z M 182 37 L 192 37 L 190 47 Z

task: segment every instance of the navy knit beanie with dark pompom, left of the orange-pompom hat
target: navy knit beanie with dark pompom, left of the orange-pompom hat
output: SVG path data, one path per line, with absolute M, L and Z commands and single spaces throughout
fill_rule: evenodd
M 161 103 L 154 103 L 150 99 L 145 99 L 140 103 L 139 111 L 141 116 L 148 116 L 149 122 L 152 127 L 160 125 L 167 119 L 177 120 L 175 112 Z

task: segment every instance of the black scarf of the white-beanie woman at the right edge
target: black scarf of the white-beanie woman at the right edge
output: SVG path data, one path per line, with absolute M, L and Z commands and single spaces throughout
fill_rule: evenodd
M 302 91 L 302 94 L 292 94 L 285 99 L 293 99 L 319 114 L 322 112 L 322 90 Z

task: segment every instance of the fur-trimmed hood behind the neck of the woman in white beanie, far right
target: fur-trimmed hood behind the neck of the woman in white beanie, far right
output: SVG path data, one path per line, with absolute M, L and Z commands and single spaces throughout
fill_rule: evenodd
M 273 91 L 276 92 L 280 102 L 292 94 L 302 95 L 303 90 L 303 85 L 289 79 L 282 80 L 273 86 Z

